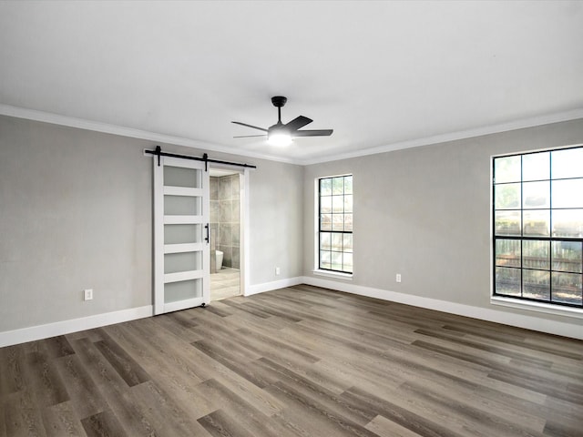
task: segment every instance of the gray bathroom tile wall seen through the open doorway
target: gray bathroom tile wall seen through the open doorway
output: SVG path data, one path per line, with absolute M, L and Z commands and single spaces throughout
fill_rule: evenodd
M 240 268 L 240 175 L 210 178 L 211 272 L 214 250 L 222 250 L 223 266 Z

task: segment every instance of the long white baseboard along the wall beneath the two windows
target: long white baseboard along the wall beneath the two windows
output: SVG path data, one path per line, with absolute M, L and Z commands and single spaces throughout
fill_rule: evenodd
M 548 334 L 555 334 L 563 337 L 583 340 L 583 326 L 576 323 L 566 323 L 563 321 L 547 320 L 533 316 L 526 316 L 523 314 L 517 314 L 515 312 L 473 307 L 471 305 L 464 305 L 446 300 L 423 298 L 420 296 L 412 296 L 410 294 L 398 293 L 395 291 L 373 289 L 371 287 L 363 287 L 360 285 L 354 285 L 352 283 L 337 282 L 330 279 L 312 278 L 310 276 L 304 276 L 302 278 L 302 282 L 304 284 L 313 285 L 316 287 L 345 291 L 347 293 L 367 296 L 369 298 L 390 300 L 392 302 L 404 303 L 406 305 L 422 307 L 428 310 L 438 310 L 456 314 L 458 316 L 494 321 L 496 323 L 516 326 L 517 328 L 538 330 Z

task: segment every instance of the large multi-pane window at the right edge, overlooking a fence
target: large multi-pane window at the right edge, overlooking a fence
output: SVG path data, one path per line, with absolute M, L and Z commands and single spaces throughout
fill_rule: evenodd
M 493 169 L 494 295 L 583 308 L 583 147 Z

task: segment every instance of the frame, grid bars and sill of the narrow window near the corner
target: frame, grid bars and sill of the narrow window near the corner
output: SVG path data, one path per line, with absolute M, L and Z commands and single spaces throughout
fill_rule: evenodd
M 321 239 L 321 234 L 322 233 L 331 233 L 331 234 L 350 234 L 351 236 L 353 236 L 353 227 L 352 230 L 332 230 L 332 229 L 322 229 L 322 192 L 321 192 L 321 188 L 322 188 L 322 180 L 323 179 L 333 179 L 333 178 L 352 178 L 353 179 L 353 174 L 352 173 L 346 173 L 346 174 L 341 174 L 341 175 L 333 175 L 333 176 L 322 176 L 322 177 L 318 177 L 315 178 L 314 180 L 314 210 L 315 210 L 315 214 L 314 214 L 314 269 L 313 269 L 313 273 L 318 274 L 318 275 L 322 275 L 322 276 L 328 276 L 331 278 L 338 278 L 338 279 L 349 279 L 352 280 L 353 278 L 353 265 L 352 265 L 352 269 L 351 271 L 348 271 L 346 269 L 328 269 L 325 267 L 322 267 L 322 259 L 321 259 L 321 253 L 322 250 L 326 250 L 326 249 L 322 249 L 321 243 L 322 243 L 322 239 Z M 344 187 L 344 185 L 343 185 Z M 344 188 L 343 188 L 344 189 Z M 353 190 L 351 193 L 345 193 L 343 192 L 342 195 L 330 195 L 332 196 L 353 196 Z M 353 208 L 352 211 L 348 212 L 349 214 L 353 215 Z M 343 210 L 342 214 L 346 214 L 345 210 Z M 332 212 L 331 212 L 332 215 Z M 343 222 L 344 223 L 344 222 Z M 331 239 L 332 239 L 332 235 L 331 235 Z M 352 249 L 353 250 L 353 249 Z M 332 254 L 334 250 L 330 249 L 330 252 Z M 342 250 L 342 253 L 353 253 L 353 251 L 351 252 L 344 252 L 344 250 Z

